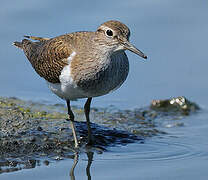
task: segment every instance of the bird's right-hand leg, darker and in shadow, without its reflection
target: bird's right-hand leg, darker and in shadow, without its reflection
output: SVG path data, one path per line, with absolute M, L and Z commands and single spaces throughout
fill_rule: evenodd
M 92 98 L 88 98 L 85 105 L 84 105 L 84 111 L 85 111 L 85 117 L 87 120 L 87 130 L 88 130 L 88 136 L 87 136 L 87 144 L 91 145 L 92 142 L 92 132 L 91 132 L 91 127 L 90 127 L 90 104 L 91 104 Z

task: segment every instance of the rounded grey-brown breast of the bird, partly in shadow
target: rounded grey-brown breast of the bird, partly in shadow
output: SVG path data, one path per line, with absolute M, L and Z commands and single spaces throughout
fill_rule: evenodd
M 119 88 L 126 80 L 129 62 L 124 51 L 119 51 L 107 59 L 94 60 L 77 72 L 74 78 L 77 86 L 87 97 L 96 97 Z

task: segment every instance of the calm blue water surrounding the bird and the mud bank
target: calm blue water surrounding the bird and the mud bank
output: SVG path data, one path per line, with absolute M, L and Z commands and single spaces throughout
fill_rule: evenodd
M 0 7 L 0 95 L 63 103 L 48 90 L 23 53 L 11 46 L 23 35 L 53 37 L 78 30 L 95 30 L 117 19 L 131 29 L 131 42 L 149 59 L 127 52 L 130 74 L 112 94 L 95 98 L 94 107 L 144 107 L 152 99 L 185 95 L 197 102 L 200 113 L 183 118 L 184 126 L 161 129 L 168 135 L 144 144 L 112 147 L 94 153 L 92 179 L 207 179 L 207 32 L 206 1 L 9 1 Z M 83 100 L 74 102 L 83 105 Z M 75 168 L 77 179 L 87 179 L 86 154 Z M 0 179 L 70 179 L 73 160 L 5 173 Z

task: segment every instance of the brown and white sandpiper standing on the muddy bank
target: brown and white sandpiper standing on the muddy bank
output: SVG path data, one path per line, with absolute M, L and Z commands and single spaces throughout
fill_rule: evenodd
M 120 21 L 110 20 L 96 31 L 77 31 L 54 38 L 24 37 L 13 45 L 23 50 L 49 89 L 66 101 L 75 148 L 79 143 L 71 101 L 87 98 L 87 145 L 93 145 L 89 117 L 92 98 L 115 91 L 124 83 L 129 73 L 126 50 L 147 59 L 130 43 L 130 29 Z

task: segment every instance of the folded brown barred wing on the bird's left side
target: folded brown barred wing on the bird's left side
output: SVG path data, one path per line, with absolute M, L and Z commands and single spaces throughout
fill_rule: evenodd
M 68 65 L 67 58 L 73 53 L 72 36 L 69 34 L 52 39 L 36 37 L 31 39 L 39 41 L 24 39 L 22 49 L 33 68 L 48 82 L 59 83 L 61 71 Z

